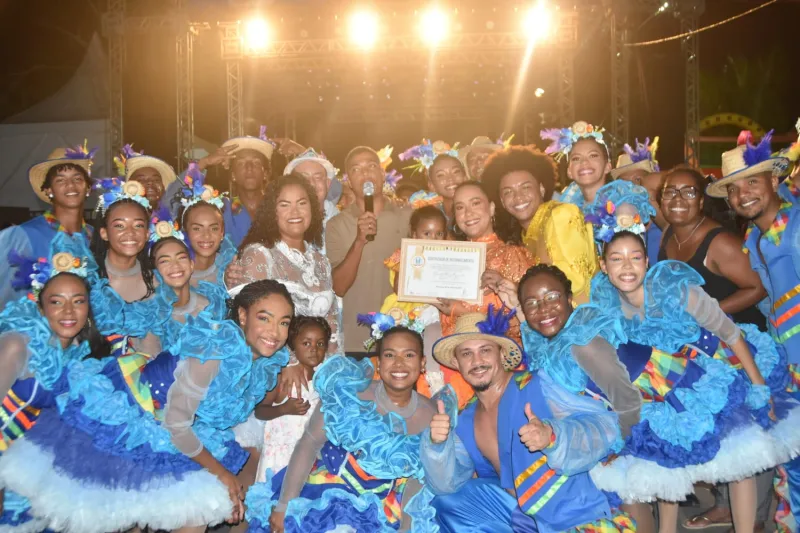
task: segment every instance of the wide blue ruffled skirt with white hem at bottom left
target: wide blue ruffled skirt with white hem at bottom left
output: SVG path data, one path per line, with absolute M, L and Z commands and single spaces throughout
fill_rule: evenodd
M 226 487 L 178 452 L 158 422 L 159 398 L 166 397 L 176 358 L 159 357 L 152 372 L 144 367 L 135 382 L 126 381 L 131 373 L 123 371 L 124 360 L 69 367 L 70 393 L 60 400 L 61 412 L 42 411 L 37 424 L 0 457 L 0 485 L 27 498 L 34 516 L 63 533 L 136 525 L 171 530 L 224 521 L 232 509 Z M 154 381 L 147 381 L 148 374 Z M 141 391 L 151 389 L 147 403 Z M 209 451 L 238 472 L 247 453 L 232 432 L 222 433 Z

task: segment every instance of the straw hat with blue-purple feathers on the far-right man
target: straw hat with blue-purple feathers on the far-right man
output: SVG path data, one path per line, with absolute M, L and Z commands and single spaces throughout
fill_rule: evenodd
M 739 146 L 722 154 L 722 177 L 711 183 L 706 194 L 714 198 L 727 198 L 727 186 L 734 181 L 769 172 L 775 174 L 788 165 L 783 156 L 773 156 L 770 151 L 772 131 L 754 146 L 749 131 L 739 134 Z

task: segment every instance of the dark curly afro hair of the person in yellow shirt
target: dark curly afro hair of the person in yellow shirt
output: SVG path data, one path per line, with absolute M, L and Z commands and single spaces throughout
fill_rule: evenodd
M 495 231 L 497 236 L 509 244 L 522 244 L 524 229 L 519 220 L 509 213 L 500 199 L 500 182 L 512 172 L 528 172 L 544 187 L 544 200 L 553 196 L 558 167 L 552 157 L 534 147 L 512 146 L 495 152 L 486 160 L 481 181 L 486 184 L 489 199 L 494 202 Z

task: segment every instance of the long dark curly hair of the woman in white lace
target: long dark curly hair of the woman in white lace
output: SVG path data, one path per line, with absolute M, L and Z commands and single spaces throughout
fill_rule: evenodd
M 284 187 L 297 185 L 302 187 L 308 196 L 311 204 L 311 224 L 303 235 L 303 239 L 320 248 L 322 247 L 322 207 L 319 205 L 317 194 L 309 185 L 308 180 L 299 174 L 289 174 L 281 176 L 275 181 L 267 184 L 264 199 L 256 211 L 256 218 L 250 226 L 242 244 L 239 245 L 239 253 L 242 253 L 248 245 L 257 243 L 263 244 L 267 248 L 272 248 L 281 240 L 280 230 L 278 229 L 278 196 Z

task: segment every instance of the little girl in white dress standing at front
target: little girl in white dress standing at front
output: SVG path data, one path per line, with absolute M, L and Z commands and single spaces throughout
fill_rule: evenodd
M 275 387 L 256 407 L 256 418 L 265 421 L 256 481 L 266 479 L 267 469 L 276 473 L 289 464 L 295 444 L 319 402 L 312 378 L 314 368 L 325 360 L 330 339 L 331 328 L 324 318 L 298 315 L 292 319 L 286 345 L 305 370 L 308 390 L 302 391 L 301 398 L 291 398 Z

